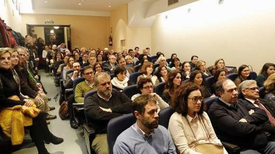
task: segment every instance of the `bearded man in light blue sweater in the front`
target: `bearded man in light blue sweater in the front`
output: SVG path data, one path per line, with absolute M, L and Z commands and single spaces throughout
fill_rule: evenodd
M 157 101 L 151 95 L 138 96 L 132 103 L 137 122 L 117 138 L 113 153 L 176 153 L 168 130 L 158 125 Z

